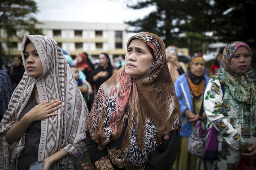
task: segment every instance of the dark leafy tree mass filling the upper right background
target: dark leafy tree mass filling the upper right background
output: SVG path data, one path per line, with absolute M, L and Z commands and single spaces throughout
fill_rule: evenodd
M 255 46 L 253 0 L 146 0 L 133 9 L 156 6 L 143 19 L 128 21 L 132 32 L 148 31 L 166 45 L 188 47 L 190 55 L 210 42 L 241 40 Z

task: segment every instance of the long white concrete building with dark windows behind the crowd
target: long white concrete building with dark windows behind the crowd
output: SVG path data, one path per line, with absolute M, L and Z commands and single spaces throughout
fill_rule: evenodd
M 75 57 L 79 52 L 86 52 L 89 57 L 98 58 L 102 52 L 109 54 L 111 59 L 126 54 L 126 45 L 129 38 L 124 23 L 79 23 L 41 21 L 36 25 L 35 32 L 42 30 L 45 36 L 54 39 L 58 45 L 67 51 L 68 55 Z M 16 30 L 10 38 L 12 48 L 10 51 L 4 41 L 6 35 L 1 31 L 3 51 L 11 56 L 20 55 L 21 42 L 24 33 Z

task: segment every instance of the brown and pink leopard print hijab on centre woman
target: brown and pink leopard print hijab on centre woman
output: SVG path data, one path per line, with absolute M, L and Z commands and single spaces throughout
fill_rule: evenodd
M 141 77 L 125 74 L 125 65 L 99 88 L 87 118 L 91 138 L 104 148 L 116 140 L 125 123 L 121 156 L 129 169 L 143 167 L 169 132 L 180 128 L 180 105 L 166 63 L 163 40 L 151 33 L 140 33 L 128 40 L 140 39 L 153 50 L 154 62 Z M 127 46 L 128 46 L 127 45 Z

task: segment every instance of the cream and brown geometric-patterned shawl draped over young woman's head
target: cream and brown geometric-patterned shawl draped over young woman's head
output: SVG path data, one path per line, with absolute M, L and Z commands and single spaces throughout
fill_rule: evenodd
M 5 132 L 17 123 L 35 85 L 40 103 L 56 99 L 62 101 L 61 108 L 54 111 L 54 113 L 58 112 L 57 116 L 41 120 L 38 160 L 44 160 L 58 150 L 65 150 L 70 155 L 60 159 L 59 163 L 81 163 L 86 153 L 84 141 L 88 110 L 76 80 L 61 48 L 49 37 L 25 34 L 21 47 L 24 66 L 23 50 L 27 38 L 35 45 L 44 73 L 41 77 L 33 78 L 25 72 L 13 92 L 8 110 L 0 123 L 0 160 L 4 160 L 0 162 L 0 169 L 15 169 L 17 156 L 24 148 L 25 134 L 10 146 Z M 52 168 L 58 169 L 57 164 Z

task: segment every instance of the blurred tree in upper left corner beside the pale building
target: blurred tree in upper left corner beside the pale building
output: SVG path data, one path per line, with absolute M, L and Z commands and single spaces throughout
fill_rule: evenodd
M 10 37 L 16 30 L 26 30 L 30 34 L 34 33 L 35 24 L 39 23 L 33 16 L 37 11 L 34 0 L 1 0 L 0 30 L 5 30 L 6 42 L 9 48 L 11 47 Z

